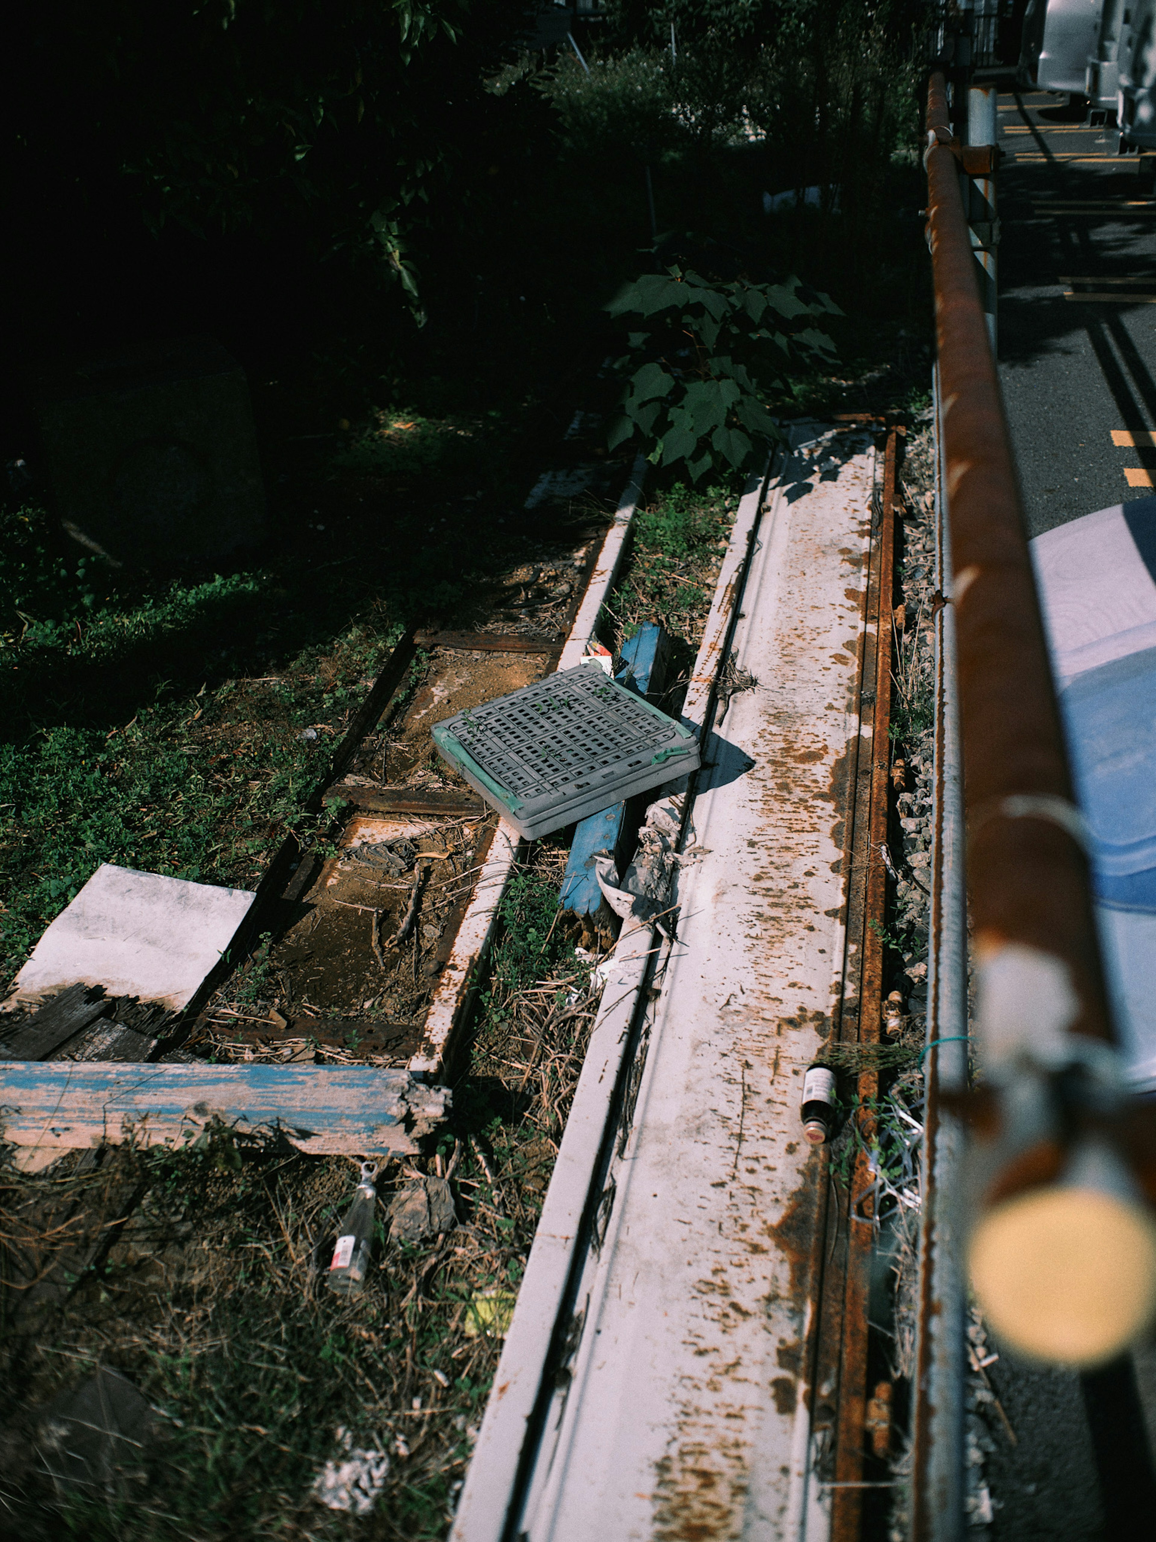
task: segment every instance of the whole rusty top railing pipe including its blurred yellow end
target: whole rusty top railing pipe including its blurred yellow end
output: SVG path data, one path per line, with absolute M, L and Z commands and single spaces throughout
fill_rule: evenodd
M 934 1226 L 925 1220 L 923 1264 L 933 1272 L 923 1280 L 916 1389 L 916 1537 L 953 1534 L 939 1507 L 954 1479 L 934 1449 L 936 1429 L 951 1425 L 945 1397 L 962 1391 L 959 1375 L 948 1374 L 949 1357 L 936 1359 L 934 1325 L 948 1298 L 959 1306 L 951 1268 L 966 1257 L 980 1305 L 1005 1342 L 1077 1366 L 1124 1349 L 1151 1312 L 1156 1280 L 1156 1227 L 1145 1203 L 1145 1190 L 1148 1201 L 1156 1198 L 1150 1124 L 1125 1095 L 1116 1053 L 1085 825 L 960 193 L 960 171 L 990 174 L 994 156 L 994 146 L 963 146 L 954 137 L 946 82 L 934 72 L 925 165 L 953 574 L 940 598 L 951 606 L 957 658 L 983 1087 L 962 1095 L 940 1086 L 937 1045 L 946 1047 L 948 1036 L 936 1036 L 943 1029 L 929 1015 L 925 1181 L 933 1189 L 939 1124 L 949 1132 L 963 1116 L 969 1138 L 956 1186 L 957 1231 L 953 1237 L 951 1223 L 939 1237 L 954 1258 L 943 1246 L 936 1255 L 926 1231 Z M 931 944 L 934 951 L 934 936 Z M 925 1189 L 928 1197 L 934 1200 Z M 1074 1274 L 1073 1258 L 1080 1258 Z M 1130 1294 L 1113 1284 L 1121 1271 L 1130 1272 Z

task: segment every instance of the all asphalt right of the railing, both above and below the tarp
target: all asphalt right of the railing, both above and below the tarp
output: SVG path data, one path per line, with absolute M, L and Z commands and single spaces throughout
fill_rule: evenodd
M 1064 97 L 1002 91 L 999 108 L 999 375 L 1028 534 L 1039 535 L 1156 492 L 1156 439 L 1142 443 L 1156 429 L 1156 196 L 1139 159 L 1117 154 L 1116 130 L 1073 122 Z M 1151 1517 L 1122 1533 L 1119 1513 L 1104 1511 L 1136 1465 L 1136 1423 L 1156 1436 L 1156 1352 L 1117 1368 L 1107 1394 L 1006 1354 L 990 1374 L 1017 1437 L 1013 1446 L 993 1429 L 993 1542 L 1144 1534 Z M 1121 1416 L 1131 1433 L 1113 1426 Z

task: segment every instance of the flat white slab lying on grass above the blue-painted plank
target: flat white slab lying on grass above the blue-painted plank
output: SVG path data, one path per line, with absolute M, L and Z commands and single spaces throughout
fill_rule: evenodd
M 32 948 L 5 1007 L 83 982 L 177 1010 L 191 1001 L 251 904 L 244 888 L 105 862 Z

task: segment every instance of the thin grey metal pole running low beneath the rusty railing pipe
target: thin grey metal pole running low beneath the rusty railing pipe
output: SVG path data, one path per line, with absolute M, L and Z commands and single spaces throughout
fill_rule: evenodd
M 936 401 L 936 588 L 951 594 L 951 550 L 943 478 L 943 399 Z M 942 1093 L 968 1084 L 968 961 L 963 837 L 963 765 L 959 742 L 956 623 L 936 612 L 936 800 L 931 842 L 931 931 L 923 1104 L 923 1192 L 919 1247 L 912 1542 L 963 1537 L 963 1329 L 966 1288 L 959 1180 L 963 1130 Z M 933 1047 L 934 1045 L 934 1047 Z

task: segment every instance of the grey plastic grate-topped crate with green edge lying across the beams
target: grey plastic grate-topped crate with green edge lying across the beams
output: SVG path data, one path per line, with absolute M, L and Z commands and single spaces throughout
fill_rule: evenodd
M 433 725 L 455 771 L 530 840 L 686 776 L 698 740 L 598 665 Z

